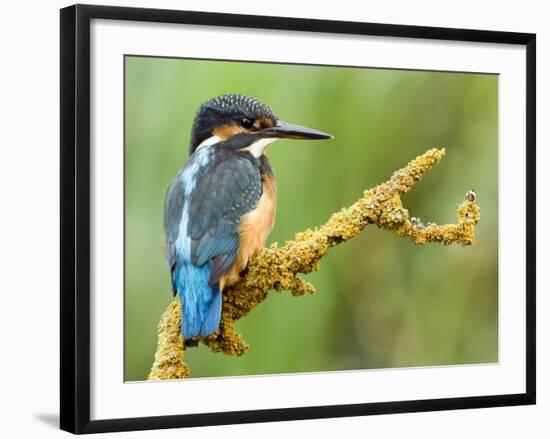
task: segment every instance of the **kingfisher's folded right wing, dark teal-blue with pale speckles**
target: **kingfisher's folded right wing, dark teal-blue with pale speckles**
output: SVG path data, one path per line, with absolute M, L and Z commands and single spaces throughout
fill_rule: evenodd
M 197 266 L 212 263 L 211 285 L 233 265 L 241 218 L 254 209 L 261 195 L 259 168 L 235 153 L 213 160 L 190 194 L 187 232 L 191 261 Z

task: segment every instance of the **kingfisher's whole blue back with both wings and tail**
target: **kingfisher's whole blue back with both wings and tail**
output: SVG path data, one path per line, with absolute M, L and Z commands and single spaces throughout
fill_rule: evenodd
M 181 298 L 186 339 L 219 327 L 218 283 L 237 256 L 241 218 L 262 193 L 253 160 L 214 147 L 196 151 L 166 193 L 166 262 L 172 291 Z

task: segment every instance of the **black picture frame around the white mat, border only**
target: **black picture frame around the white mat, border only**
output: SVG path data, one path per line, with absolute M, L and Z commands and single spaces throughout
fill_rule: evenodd
M 90 420 L 90 21 L 92 19 L 525 46 L 527 59 L 525 66 L 527 79 L 525 393 Z M 89 5 L 75 5 L 62 9 L 60 23 L 60 426 L 63 430 L 80 434 L 535 404 L 535 34 Z

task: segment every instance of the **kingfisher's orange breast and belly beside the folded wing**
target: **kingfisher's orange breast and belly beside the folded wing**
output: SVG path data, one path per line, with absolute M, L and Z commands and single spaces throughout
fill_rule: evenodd
M 220 279 L 220 290 L 237 282 L 250 258 L 265 246 L 267 236 L 275 222 L 277 187 L 272 176 L 262 178 L 262 196 L 256 207 L 243 215 L 239 227 L 239 249 L 229 272 Z

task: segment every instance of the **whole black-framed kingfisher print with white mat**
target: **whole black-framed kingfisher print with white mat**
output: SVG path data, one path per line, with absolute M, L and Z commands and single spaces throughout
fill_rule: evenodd
M 535 35 L 61 10 L 61 428 L 535 403 Z

